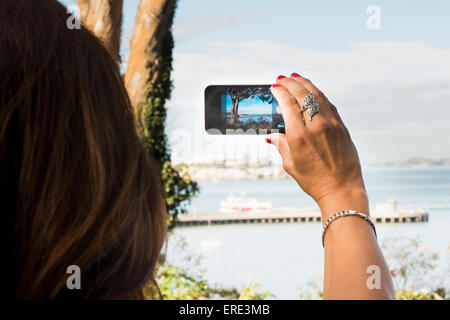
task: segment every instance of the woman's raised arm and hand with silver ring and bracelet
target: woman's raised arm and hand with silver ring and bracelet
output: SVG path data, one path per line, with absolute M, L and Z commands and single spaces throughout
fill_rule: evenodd
M 394 298 L 369 218 L 358 153 L 336 107 L 297 73 L 279 76 L 271 90 L 280 104 L 286 134 L 269 135 L 266 141 L 278 148 L 284 169 L 317 202 L 322 221 L 331 220 L 322 237 L 324 298 Z

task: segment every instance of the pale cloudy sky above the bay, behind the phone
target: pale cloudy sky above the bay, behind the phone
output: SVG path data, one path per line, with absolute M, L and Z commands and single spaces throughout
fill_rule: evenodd
M 124 0 L 125 64 L 137 6 Z M 449 0 L 179 0 L 167 104 L 174 158 L 228 158 L 232 141 L 235 157 L 277 159 L 263 137 L 204 134 L 203 94 L 292 72 L 336 105 L 363 164 L 450 157 L 449 13 Z

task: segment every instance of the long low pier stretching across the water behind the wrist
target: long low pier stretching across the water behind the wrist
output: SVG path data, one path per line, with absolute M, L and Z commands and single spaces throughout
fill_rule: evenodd
M 415 223 L 428 221 L 425 210 L 409 210 L 395 215 L 377 215 L 372 218 L 376 223 Z M 266 223 L 313 223 L 320 222 L 320 211 L 272 211 L 264 213 L 213 213 L 181 214 L 178 226 L 210 226 L 225 224 L 266 224 Z

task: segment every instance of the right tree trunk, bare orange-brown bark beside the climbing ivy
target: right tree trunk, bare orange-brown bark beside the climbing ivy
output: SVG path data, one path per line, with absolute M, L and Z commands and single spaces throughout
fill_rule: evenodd
M 157 82 L 160 76 L 161 43 L 172 26 L 175 4 L 176 0 L 139 3 L 125 74 L 125 87 L 135 108 L 144 99 L 147 83 Z

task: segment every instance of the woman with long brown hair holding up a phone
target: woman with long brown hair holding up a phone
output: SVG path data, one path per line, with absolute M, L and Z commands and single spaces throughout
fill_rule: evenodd
M 145 288 L 155 291 L 166 237 L 160 183 L 118 66 L 86 29 L 67 29 L 67 18 L 55 0 L 0 1 L 2 296 L 142 298 Z M 344 209 L 368 214 L 358 156 L 336 108 L 296 74 L 280 77 L 272 91 L 286 135 L 268 141 L 324 220 Z M 299 106 L 310 91 L 320 110 L 303 120 Z M 360 216 L 330 223 L 324 245 L 325 298 L 393 297 Z M 73 265 L 80 290 L 66 286 Z M 367 286 L 373 265 L 380 289 Z

